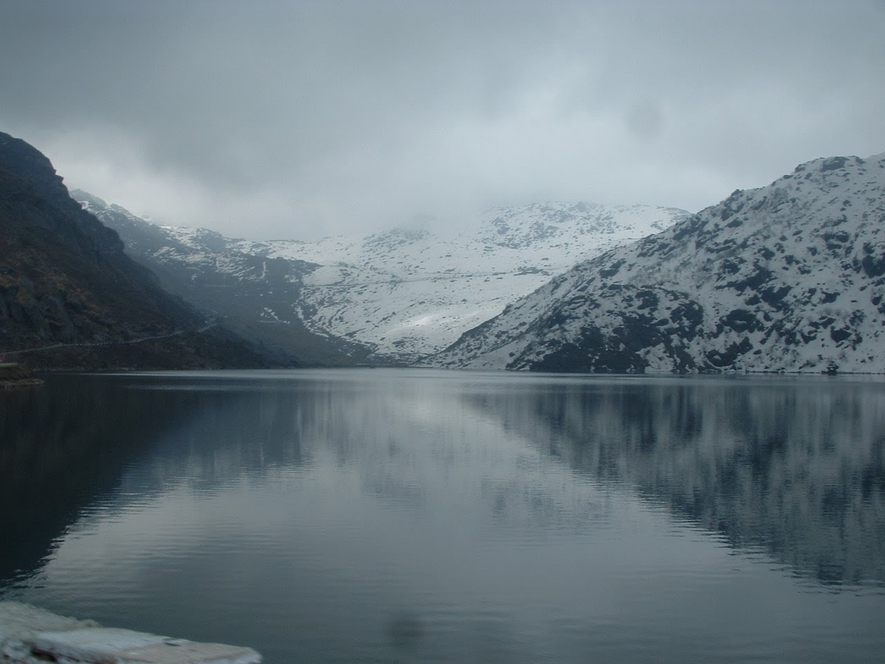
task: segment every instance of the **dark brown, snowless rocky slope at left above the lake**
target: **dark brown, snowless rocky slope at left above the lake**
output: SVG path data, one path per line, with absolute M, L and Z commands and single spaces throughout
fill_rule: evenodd
M 165 293 L 48 158 L 2 133 L 0 355 L 42 367 L 266 364 Z

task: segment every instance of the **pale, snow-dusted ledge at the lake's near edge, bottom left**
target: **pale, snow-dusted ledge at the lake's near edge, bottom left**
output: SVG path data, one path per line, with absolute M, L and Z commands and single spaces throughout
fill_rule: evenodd
M 258 664 L 238 645 L 204 644 L 132 629 L 100 627 L 49 611 L 0 602 L 0 664 Z

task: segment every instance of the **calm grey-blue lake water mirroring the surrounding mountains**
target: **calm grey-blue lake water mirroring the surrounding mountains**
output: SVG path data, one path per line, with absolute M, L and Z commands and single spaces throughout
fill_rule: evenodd
M 882 661 L 885 382 L 54 375 L 0 533 L 0 599 L 269 664 Z

